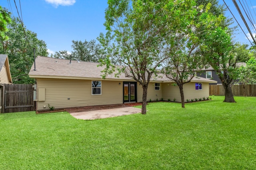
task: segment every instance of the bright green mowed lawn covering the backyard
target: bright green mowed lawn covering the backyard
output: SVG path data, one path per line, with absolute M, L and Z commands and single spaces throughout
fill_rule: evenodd
M 0 169 L 256 169 L 256 98 L 213 99 L 93 121 L 0 114 Z

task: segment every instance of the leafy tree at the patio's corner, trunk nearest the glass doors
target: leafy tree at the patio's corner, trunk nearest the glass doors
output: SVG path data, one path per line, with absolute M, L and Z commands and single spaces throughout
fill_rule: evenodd
M 191 1 L 183 0 L 108 0 L 104 23 L 107 33 L 98 40 L 108 56 L 101 61 L 105 74 L 125 72 L 139 82 L 143 89 L 142 114 L 146 114 L 147 90 L 150 80 L 157 76 L 163 61 L 164 36 L 184 27 Z M 170 24 L 168 24 L 170 23 Z M 168 27 L 167 27 L 168 26 Z M 111 64 L 116 59 L 119 66 Z

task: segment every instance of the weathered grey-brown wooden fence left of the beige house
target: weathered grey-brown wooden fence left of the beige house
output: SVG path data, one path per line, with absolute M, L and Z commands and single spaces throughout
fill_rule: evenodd
M 34 111 L 32 84 L 3 84 L 1 86 L 1 113 Z

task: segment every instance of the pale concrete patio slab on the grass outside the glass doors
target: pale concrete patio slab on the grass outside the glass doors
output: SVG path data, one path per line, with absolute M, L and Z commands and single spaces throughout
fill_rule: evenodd
M 120 108 L 113 108 L 113 109 L 76 112 L 76 113 L 70 113 L 70 115 L 72 115 L 76 119 L 94 120 L 94 119 L 102 119 L 107 117 L 130 115 L 134 113 L 141 113 L 141 109 L 128 106 L 128 107 L 120 107 Z

